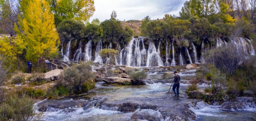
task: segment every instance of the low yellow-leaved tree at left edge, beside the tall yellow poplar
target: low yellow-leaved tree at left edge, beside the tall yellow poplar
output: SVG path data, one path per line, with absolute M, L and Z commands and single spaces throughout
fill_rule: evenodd
M 23 49 L 26 49 L 26 44 L 20 36 L 0 38 L 0 54 L 7 56 L 8 59 L 16 60 L 17 55 L 21 54 Z

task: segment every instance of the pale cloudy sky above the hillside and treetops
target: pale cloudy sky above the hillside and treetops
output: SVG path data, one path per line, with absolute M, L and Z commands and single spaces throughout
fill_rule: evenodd
M 96 11 L 90 21 L 98 18 L 100 22 L 109 19 L 113 10 L 119 20 L 141 20 L 163 18 L 164 14 L 179 16 L 185 0 L 94 0 Z

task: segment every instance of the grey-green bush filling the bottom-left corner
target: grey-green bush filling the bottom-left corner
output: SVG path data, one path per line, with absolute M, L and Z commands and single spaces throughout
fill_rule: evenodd
M 36 121 L 41 118 L 34 107 L 35 101 L 26 95 L 11 95 L 0 105 L 0 120 Z

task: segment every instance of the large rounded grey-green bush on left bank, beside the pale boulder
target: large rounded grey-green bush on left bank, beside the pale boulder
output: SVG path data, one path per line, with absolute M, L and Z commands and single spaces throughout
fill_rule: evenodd
M 81 63 L 70 68 L 65 68 L 60 78 L 71 87 L 71 93 L 87 92 L 95 87 L 95 75 L 90 62 Z

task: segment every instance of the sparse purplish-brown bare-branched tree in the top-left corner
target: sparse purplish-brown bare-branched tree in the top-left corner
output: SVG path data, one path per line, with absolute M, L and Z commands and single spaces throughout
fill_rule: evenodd
M 18 23 L 19 9 L 16 0 L 3 0 L 0 2 L 0 32 L 13 36 L 14 23 Z

